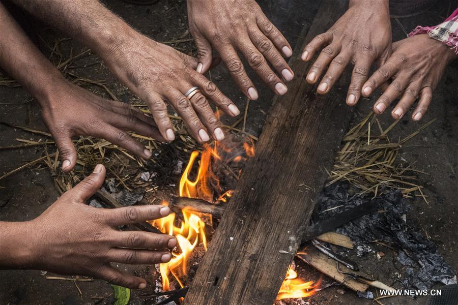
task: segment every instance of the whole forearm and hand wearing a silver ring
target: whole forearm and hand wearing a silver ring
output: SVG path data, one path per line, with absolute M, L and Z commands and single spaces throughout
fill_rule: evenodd
M 209 102 L 235 116 L 240 112 L 214 83 L 195 71 L 197 60 L 139 34 L 96 0 L 13 0 L 94 50 L 105 65 L 145 101 L 163 138 L 175 138 L 167 100 L 199 142 L 224 138 Z M 188 99 L 193 86 L 202 93 Z

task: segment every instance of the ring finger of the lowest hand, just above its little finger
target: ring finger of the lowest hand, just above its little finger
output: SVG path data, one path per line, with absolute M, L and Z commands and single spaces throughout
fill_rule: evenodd
M 153 265 L 166 263 L 171 259 L 168 251 L 149 251 L 132 249 L 111 249 L 106 257 L 110 262 L 130 265 Z

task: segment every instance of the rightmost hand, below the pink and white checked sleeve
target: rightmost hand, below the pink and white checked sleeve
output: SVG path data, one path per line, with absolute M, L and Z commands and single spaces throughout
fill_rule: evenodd
M 429 38 L 427 34 L 395 42 L 386 63 L 365 82 L 363 96 L 368 97 L 377 87 L 392 79 L 374 104 L 374 112 L 382 113 L 402 95 L 391 112 L 393 118 L 399 119 L 419 97 L 412 119 L 420 120 L 431 103 L 433 91 L 442 78 L 445 67 L 457 57 L 450 47 Z

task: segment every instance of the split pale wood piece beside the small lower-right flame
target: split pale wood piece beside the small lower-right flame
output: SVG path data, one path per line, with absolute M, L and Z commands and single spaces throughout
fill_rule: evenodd
M 328 277 L 336 280 L 337 282 L 344 284 L 345 286 L 354 291 L 364 292 L 367 290 L 367 288 L 369 288 L 369 285 L 353 280 L 344 273 L 340 273 L 337 270 L 336 261 L 327 256 L 326 254 L 321 253 L 317 248 L 310 246 L 307 249 L 305 249 L 304 252 L 306 253 L 304 255 L 298 254 L 298 256 L 304 262 L 306 262 L 313 268 L 321 271 Z M 340 271 L 355 273 L 355 271 L 347 268 L 342 264 L 339 265 L 339 269 Z

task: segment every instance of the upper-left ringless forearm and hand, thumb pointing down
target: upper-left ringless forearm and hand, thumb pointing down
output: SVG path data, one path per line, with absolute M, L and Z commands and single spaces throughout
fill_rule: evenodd
M 77 135 L 104 138 L 139 157 L 151 157 L 151 152 L 126 132 L 164 140 L 151 117 L 68 82 L 26 37 L 2 4 L 0 28 L 5 29 L 0 35 L 0 66 L 40 103 L 64 171 L 70 171 L 76 164 L 72 137 Z

